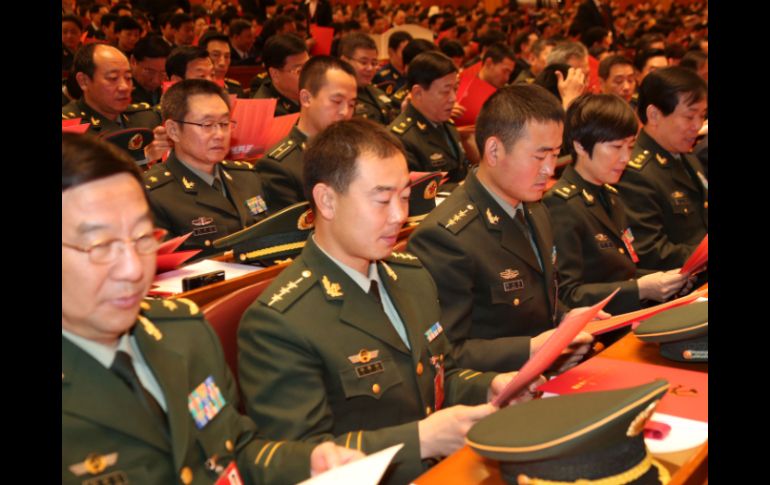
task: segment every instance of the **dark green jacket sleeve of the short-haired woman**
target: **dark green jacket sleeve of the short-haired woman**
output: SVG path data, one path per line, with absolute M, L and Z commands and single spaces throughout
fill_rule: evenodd
M 583 243 L 591 235 L 587 234 L 584 219 L 570 208 L 567 201 L 558 197 L 548 197 L 544 202 L 551 216 L 553 239 L 559 255 L 556 270 L 559 272 L 559 298 L 562 302 L 570 308 L 593 305 L 620 287 L 609 308 L 641 308 L 636 280 L 585 282 Z

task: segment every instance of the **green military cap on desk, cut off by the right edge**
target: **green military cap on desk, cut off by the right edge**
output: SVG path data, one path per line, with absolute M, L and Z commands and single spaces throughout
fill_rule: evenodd
M 636 327 L 643 342 L 660 344 L 660 354 L 678 362 L 708 362 L 709 303 L 695 302 L 654 315 Z

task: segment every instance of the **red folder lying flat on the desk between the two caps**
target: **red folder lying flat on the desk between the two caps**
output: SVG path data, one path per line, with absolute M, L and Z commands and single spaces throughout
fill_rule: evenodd
M 708 422 L 708 374 L 662 365 L 594 357 L 538 389 L 554 394 L 610 391 L 666 379 L 669 390 L 656 412 Z

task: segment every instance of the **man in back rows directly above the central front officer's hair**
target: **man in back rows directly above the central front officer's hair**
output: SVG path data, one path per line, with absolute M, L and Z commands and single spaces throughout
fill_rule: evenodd
M 393 121 L 393 101 L 372 84 L 372 79 L 380 67 L 374 40 L 360 32 L 348 34 L 340 41 L 339 52 L 340 58 L 349 62 L 356 71 L 358 102 L 355 116 L 368 118 L 382 125 Z

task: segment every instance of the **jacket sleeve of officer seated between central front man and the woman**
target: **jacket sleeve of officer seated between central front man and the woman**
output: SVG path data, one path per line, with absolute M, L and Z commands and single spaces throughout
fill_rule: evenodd
M 423 226 L 409 239 L 408 250 L 422 261 L 438 286 L 441 325 L 458 366 L 515 370 L 524 365 L 529 359 L 530 337 L 471 338 L 476 269 L 454 235 L 440 226 Z

